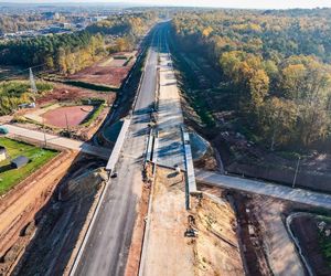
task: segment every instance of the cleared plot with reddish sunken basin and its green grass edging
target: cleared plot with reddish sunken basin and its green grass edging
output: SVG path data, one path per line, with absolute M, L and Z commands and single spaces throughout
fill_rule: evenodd
M 45 131 L 50 134 L 90 139 L 107 117 L 109 107 L 106 105 L 114 103 L 116 94 L 64 84 L 53 86 L 54 89 L 36 98 L 35 108 L 17 112 L 13 121 L 32 130 L 45 127 Z

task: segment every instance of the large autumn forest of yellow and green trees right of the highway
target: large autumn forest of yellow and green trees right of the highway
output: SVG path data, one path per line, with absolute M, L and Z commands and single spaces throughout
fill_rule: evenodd
M 330 141 L 330 9 L 180 12 L 172 29 L 182 50 L 207 59 L 228 106 L 269 148 Z

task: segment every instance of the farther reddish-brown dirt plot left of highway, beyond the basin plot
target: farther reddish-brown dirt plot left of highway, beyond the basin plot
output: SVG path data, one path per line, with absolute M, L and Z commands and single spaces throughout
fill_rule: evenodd
M 135 56 L 135 53 L 130 53 L 130 55 Z M 131 59 L 129 62 L 126 62 L 124 59 L 107 57 L 107 60 L 71 75 L 68 78 L 118 88 L 129 73 L 135 60 Z

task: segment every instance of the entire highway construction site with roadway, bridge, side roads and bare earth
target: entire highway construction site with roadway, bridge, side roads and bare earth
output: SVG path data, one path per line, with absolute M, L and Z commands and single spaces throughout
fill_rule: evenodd
M 226 171 L 171 38 L 159 22 L 0 118 L 0 275 L 330 275 L 331 195 Z

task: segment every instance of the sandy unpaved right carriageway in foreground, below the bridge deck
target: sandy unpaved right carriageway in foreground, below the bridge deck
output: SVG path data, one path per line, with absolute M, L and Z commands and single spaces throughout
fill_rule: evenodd
M 188 215 L 182 174 L 157 169 L 143 275 L 195 275 L 192 240 L 184 237 Z

